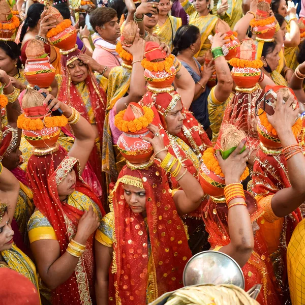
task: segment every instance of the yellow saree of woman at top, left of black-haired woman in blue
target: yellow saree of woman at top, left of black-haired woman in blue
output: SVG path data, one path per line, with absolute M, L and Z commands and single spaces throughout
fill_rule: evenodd
M 167 16 L 163 25 L 154 27 L 154 33 L 159 36 L 162 42 L 166 43 L 171 50 L 173 50 L 173 41 L 176 36 L 178 28 L 182 25 L 181 18 Z

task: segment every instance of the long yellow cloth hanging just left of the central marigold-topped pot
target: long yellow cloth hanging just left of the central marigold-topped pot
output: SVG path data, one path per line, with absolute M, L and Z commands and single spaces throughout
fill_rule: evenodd
M 128 67 L 114 67 L 111 69 L 108 77 L 107 108 L 103 132 L 102 171 L 110 175 L 110 179 L 113 181 L 116 181 L 118 173 L 125 165 L 125 159 L 119 155 L 116 145 L 112 144 L 109 111 L 118 99 L 123 98 L 127 94 L 131 71 L 131 68 Z

